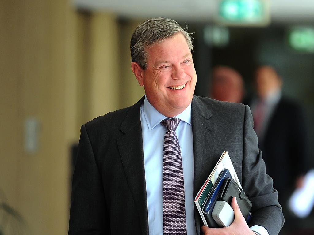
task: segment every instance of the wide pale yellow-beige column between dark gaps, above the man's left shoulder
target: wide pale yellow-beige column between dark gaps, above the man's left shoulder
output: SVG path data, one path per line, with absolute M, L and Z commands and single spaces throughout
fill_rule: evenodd
M 119 108 L 118 24 L 106 13 L 93 13 L 90 21 L 89 119 Z

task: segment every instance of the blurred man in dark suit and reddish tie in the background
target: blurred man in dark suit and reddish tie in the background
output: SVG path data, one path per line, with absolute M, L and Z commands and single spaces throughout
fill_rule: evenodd
M 256 97 L 248 101 L 266 173 L 279 191 L 279 202 L 295 185 L 302 184 L 306 172 L 306 128 L 300 105 L 282 95 L 282 79 L 271 66 L 255 73 Z M 283 201 L 282 201 L 283 200 Z

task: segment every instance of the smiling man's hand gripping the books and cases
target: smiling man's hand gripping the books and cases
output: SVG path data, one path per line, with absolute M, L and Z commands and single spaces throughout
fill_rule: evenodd
M 235 220 L 229 227 L 208 228 L 203 225 L 202 232 L 205 235 L 255 235 L 255 233 L 247 226 L 240 207 L 236 202 L 236 197 L 232 198 L 231 207 L 235 213 Z

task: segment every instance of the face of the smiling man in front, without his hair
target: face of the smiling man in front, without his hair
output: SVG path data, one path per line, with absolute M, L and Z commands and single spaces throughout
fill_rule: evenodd
M 147 69 L 138 83 L 144 86 L 149 103 L 166 117 L 181 113 L 191 102 L 196 72 L 183 34 L 147 49 Z

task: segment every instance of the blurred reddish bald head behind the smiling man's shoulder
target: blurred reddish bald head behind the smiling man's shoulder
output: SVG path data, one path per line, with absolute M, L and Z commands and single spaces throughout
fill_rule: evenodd
M 210 94 L 215 100 L 242 102 L 244 95 L 242 76 L 228 66 L 215 67 Z

